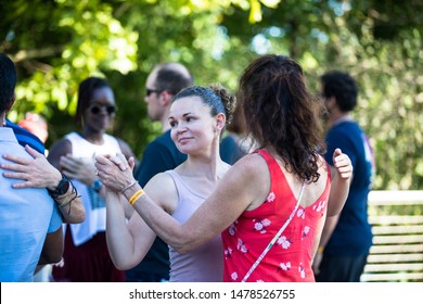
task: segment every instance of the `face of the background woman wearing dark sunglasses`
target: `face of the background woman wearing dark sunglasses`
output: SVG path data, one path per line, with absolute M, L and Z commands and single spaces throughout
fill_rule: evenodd
M 85 127 L 95 132 L 108 129 L 115 117 L 115 97 L 110 87 L 93 90 L 84 113 Z

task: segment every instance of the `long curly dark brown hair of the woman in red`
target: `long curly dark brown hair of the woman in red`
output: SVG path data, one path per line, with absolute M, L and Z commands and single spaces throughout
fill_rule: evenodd
M 299 179 L 319 179 L 323 104 L 307 90 L 298 63 L 275 54 L 256 59 L 241 76 L 238 101 L 259 149 L 274 150 Z

